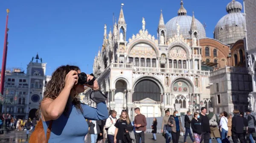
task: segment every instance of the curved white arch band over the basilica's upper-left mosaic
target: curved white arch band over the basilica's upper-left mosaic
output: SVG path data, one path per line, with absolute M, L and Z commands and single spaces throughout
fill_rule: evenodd
M 147 45 L 151 46 L 154 49 L 154 51 L 156 52 L 157 57 L 159 56 L 159 50 L 157 48 L 157 45 L 153 41 L 150 41 L 147 39 L 135 39 L 134 41 L 132 41 L 127 50 L 128 55 L 130 55 L 131 49 L 137 44 L 147 44 Z

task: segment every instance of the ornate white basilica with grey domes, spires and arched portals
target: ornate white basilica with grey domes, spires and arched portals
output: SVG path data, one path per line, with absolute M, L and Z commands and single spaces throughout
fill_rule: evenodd
M 166 109 L 178 110 L 182 115 L 201 107 L 215 106 L 220 111 L 234 104 L 216 104 L 218 100 L 214 98 L 220 91 L 212 90 L 222 87 L 212 80 L 221 73 L 211 73 L 228 68 L 226 72 L 241 71 L 237 74 L 247 75 L 241 9 L 241 3 L 235 0 L 227 4 L 228 14 L 216 22 L 212 39 L 206 37 L 204 25 L 195 18 L 194 12 L 192 16 L 187 14 L 181 0 L 177 17 L 167 23 L 160 12 L 156 36 L 146 29 L 146 20 L 142 17 L 141 30 L 128 38 L 121 7 L 113 31 L 107 34 L 107 26 L 104 27 L 102 49 L 93 64 L 101 90 L 108 95 L 108 108 L 116 110 L 118 115 L 125 109 L 133 119 L 136 107 L 140 107 L 146 117 L 160 117 Z M 233 19 L 227 22 L 228 18 Z M 245 93 L 251 91 L 251 86 L 247 86 L 243 89 Z M 81 99 L 95 106 L 89 94 L 90 90 L 85 90 Z

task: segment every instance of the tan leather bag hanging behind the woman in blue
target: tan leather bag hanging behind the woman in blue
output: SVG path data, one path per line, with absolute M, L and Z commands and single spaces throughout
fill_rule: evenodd
M 34 132 L 32 132 L 29 138 L 29 143 L 48 143 L 48 140 L 51 135 L 51 129 L 52 129 L 52 120 L 50 121 L 50 124 L 47 128 L 47 135 L 45 137 L 43 121 L 42 119 L 40 119 L 35 126 Z

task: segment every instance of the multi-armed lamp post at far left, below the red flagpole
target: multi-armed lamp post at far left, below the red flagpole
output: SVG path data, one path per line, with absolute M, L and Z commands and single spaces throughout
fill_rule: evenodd
M 0 103 L 3 105 L 5 104 L 5 112 L 4 112 L 4 120 L 3 120 L 3 126 L 2 126 L 2 131 L 3 131 L 3 134 L 6 134 L 7 133 L 7 129 L 6 129 L 6 114 L 7 114 L 7 104 L 15 104 L 15 102 L 17 101 L 17 94 L 14 96 L 14 101 L 10 101 L 10 98 L 8 97 L 9 95 L 9 90 L 7 89 L 6 92 L 5 92 L 5 96 L 3 96 L 1 93 L 0 93 Z

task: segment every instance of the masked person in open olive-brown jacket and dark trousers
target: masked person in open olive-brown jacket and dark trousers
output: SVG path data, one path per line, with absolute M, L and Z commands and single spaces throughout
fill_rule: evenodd
M 180 132 L 184 133 L 184 129 L 181 124 L 181 120 L 178 111 L 175 110 L 173 115 L 168 120 L 168 125 L 172 126 L 172 142 L 178 143 L 180 138 Z

